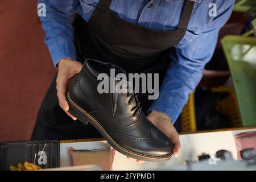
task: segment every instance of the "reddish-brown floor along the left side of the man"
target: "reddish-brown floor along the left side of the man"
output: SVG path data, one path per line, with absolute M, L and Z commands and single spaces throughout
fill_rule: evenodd
M 36 0 L 0 1 L 0 141 L 28 140 L 55 75 Z

